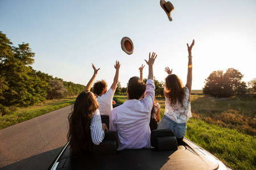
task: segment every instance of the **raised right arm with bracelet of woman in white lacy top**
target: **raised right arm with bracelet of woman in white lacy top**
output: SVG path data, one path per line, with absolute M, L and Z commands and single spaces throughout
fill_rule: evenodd
M 188 87 L 189 90 L 189 99 L 188 101 L 190 101 L 190 93 L 191 93 L 191 88 L 192 88 L 192 48 L 195 44 L 195 40 L 192 41 L 192 44 L 188 46 L 188 75 L 187 75 L 187 84 L 185 85 L 186 87 Z

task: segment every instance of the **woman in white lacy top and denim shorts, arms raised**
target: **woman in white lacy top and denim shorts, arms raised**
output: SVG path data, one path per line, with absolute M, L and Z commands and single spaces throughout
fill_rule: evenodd
M 164 84 L 164 96 L 166 97 L 166 109 L 164 116 L 158 125 L 158 129 L 172 129 L 175 137 L 180 141 L 184 138 L 187 130 L 187 121 L 191 114 L 190 94 L 192 87 L 192 47 L 188 46 L 188 74 L 187 84 L 184 86 L 180 78 L 172 74 L 169 67 L 165 68 L 168 73 Z

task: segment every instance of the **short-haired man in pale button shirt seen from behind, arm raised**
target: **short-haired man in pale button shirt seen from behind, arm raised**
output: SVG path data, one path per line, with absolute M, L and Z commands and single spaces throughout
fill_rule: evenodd
M 138 76 L 130 78 L 127 86 L 127 100 L 110 112 L 109 130 L 117 131 L 118 150 L 151 147 L 149 124 L 155 97 L 153 65 L 156 56 L 152 53 L 148 61 L 145 59 L 148 65 L 146 85 Z M 144 93 L 145 96 L 141 99 Z

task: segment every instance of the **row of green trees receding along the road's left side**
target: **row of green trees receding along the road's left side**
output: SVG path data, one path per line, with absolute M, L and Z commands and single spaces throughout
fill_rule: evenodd
M 0 31 L 0 115 L 10 107 L 34 105 L 46 99 L 77 95 L 85 86 L 34 70 L 35 53 L 29 44 L 13 46 Z

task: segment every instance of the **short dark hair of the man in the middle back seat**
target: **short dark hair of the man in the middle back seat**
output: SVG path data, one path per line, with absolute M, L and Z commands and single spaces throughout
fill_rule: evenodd
M 133 76 L 130 78 L 127 88 L 129 99 L 139 100 L 146 91 L 146 84 L 138 76 Z

